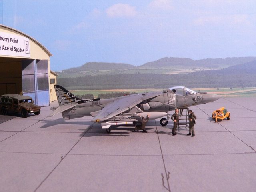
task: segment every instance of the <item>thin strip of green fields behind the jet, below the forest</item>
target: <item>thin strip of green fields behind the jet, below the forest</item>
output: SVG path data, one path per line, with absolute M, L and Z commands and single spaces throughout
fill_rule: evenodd
M 223 97 L 252 97 L 256 96 L 256 88 L 192 88 L 192 90 L 198 92 L 210 92 L 214 94 L 218 94 Z M 155 91 L 162 91 L 160 89 L 122 89 L 122 90 L 71 90 L 73 94 L 83 95 L 83 94 L 93 94 L 94 98 L 98 97 L 98 94 L 107 93 L 107 92 L 136 92 L 136 93 L 144 93 L 144 92 L 155 92 Z

